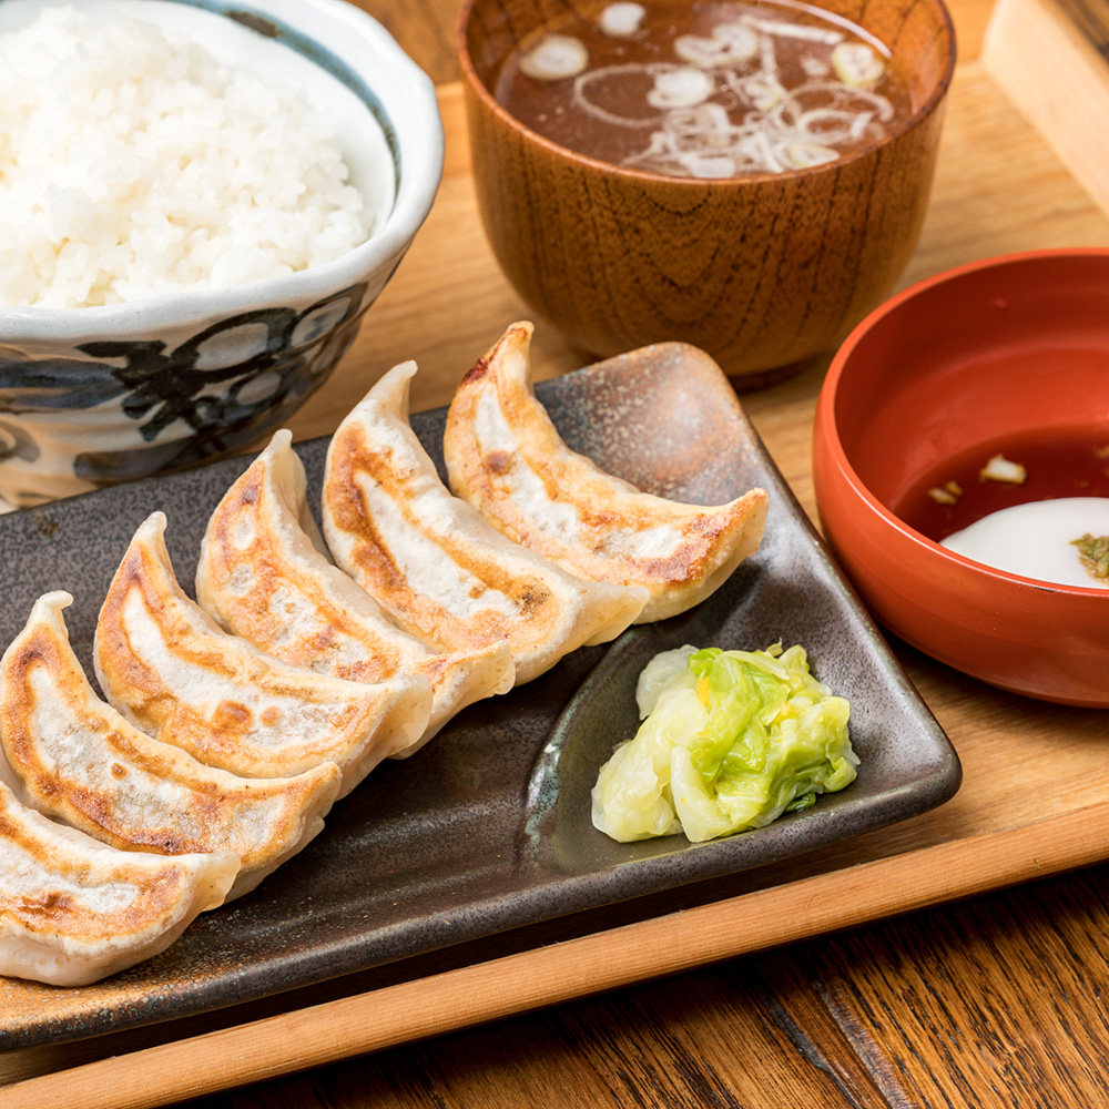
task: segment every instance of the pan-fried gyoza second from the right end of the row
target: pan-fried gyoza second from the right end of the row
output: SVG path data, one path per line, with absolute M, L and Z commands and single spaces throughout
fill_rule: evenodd
M 615 638 L 647 591 L 572 577 L 452 497 L 408 426 L 415 372 L 411 362 L 390 369 L 332 438 L 323 518 L 335 561 L 437 650 L 507 639 L 517 682 Z

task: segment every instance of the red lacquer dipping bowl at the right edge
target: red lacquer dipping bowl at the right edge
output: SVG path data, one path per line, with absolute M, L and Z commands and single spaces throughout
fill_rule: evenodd
M 813 474 L 832 550 L 885 628 L 1001 689 L 1109 708 L 1109 588 L 955 554 L 937 538 L 959 509 L 924 497 L 998 442 L 1031 450 L 1076 428 L 1109 445 L 1109 250 L 1016 254 L 923 282 L 858 325 L 820 396 Z M 965 469 L 964 511 L 987 496 Z M 1083 495 L 1037 494 L 1044 477 L 1030 465 L 1028 489 L 1007 495 Z

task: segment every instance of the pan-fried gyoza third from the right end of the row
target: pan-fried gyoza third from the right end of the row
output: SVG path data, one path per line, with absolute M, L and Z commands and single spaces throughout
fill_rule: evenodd
M 403 631 L 323 553 L 305 500 L 304 466 L 287 430 L 227 490 L 208 520 L 196 600 L 224 629 L 296 667 L 350 681 L 400 673 L 431 683 L 426 743 L 466 705 L 512 688 L 506 642 L 438 654 Z

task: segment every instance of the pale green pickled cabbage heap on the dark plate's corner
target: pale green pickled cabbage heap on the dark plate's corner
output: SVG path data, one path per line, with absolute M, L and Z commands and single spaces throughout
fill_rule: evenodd
M 855 781 L 847 702 L 813 678 L 801 647 L 664 651 L 635 700 L 643 723 L 592 791 L 594 826 L 622 843 L 762 827 Z

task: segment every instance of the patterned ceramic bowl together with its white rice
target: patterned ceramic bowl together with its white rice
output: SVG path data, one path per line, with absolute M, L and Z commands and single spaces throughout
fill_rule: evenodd
M 0 497 L 281 426 L 441 170 L 431 82 L 345 0 L 0 0 Z

